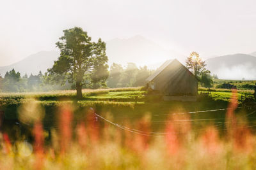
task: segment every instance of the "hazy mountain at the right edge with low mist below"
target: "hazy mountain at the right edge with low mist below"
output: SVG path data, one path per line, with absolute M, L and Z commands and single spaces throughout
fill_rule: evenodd
M 256 57 L 244 53 L 214 57 L 205 61 L 207 69 L 221 79 L 256 80 Z

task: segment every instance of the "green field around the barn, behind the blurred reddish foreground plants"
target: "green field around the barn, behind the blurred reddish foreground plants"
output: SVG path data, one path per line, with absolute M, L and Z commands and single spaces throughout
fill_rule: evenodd
M 200 89 L 198 93 L 205 92 Z M 214 89 L 218 90 L 218 89 Z M 19 120 L 18 110 L 22 104 L 34 99 L 45 110 L 44 125 L 51 127 L 56 125 L 56 110 L 65 104 L 72 104 L 75 110 L 75 119 L 79 121 L 84 117 L 84 111 L 93 108 L 97 113 L 106 115 L 111 114 L 116 123 L 128 120 L 131 124 L 136 124 L 144 115 L 149 115 L 152 120 L 152 128 L 157 131 L 164 126 L 164 121 L 172 113 L 215 110 L 227 108 L 228 101 L 232 92 L 228 89 L 211 92 L 211 97 L 203 97 L 196 102 L 162 101 L 159 97 L 147 96 L 147 92 L 138 88 L 122 89 L 99 89 L 83 90 L 83 99 L 76 100 L 76 91 L 65 90 L 56 92 L 37 92 L 37 93 L 2 93 L 0 94 L 1 110 L 4 110 L 6 120 Z M 246 94 L 248 90 L 239 90 L 238 98 Z M 248 110 L 237 110 L 244 114 Z M 201 114 L 188 115 L 191 119 L 210 119 L 195 122 L 197 128 L 207 124 L 220 124 L 224 127 L 225 111 L 207 112 Z M 214 120 L 216 119 L 216 121 Z M 217 121 L 218 120 L 218 121 Z

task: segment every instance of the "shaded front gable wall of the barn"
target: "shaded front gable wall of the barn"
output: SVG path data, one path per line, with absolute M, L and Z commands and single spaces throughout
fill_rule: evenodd
M 180 62 L 173 61 L 155 79 L 155 89 L 168 96 L 196 96 L 198 80 Z

